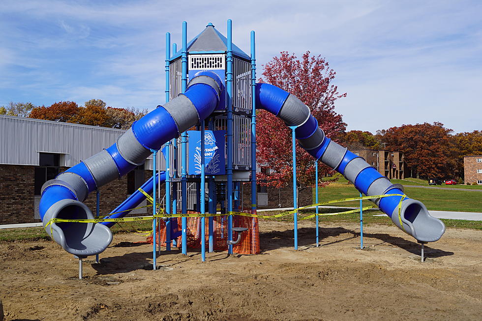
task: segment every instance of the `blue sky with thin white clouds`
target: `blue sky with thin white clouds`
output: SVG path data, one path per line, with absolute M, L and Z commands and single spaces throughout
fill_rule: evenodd
M 321 54 L 337 72 L 348 129 L 443 122 L 482 130 L 482 1 L 0 1 L 0 105 L 96 98 L 164 102 L 165 33 L 212 22 L 257 62 Z M 229 3 L 228 3 L 229 2 Z M 258 69 L 258 75 L 261 74 Z

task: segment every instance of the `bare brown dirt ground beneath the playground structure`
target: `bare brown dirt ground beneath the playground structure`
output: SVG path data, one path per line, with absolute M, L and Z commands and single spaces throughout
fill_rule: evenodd
M 0 243 L 5 320 L 481 320 L 482 231 L 449 229 L 420 245 L 392 226 L 260 222 L 263 253 L 161 252 L 114 235 L 101 263 L 50 241 Z

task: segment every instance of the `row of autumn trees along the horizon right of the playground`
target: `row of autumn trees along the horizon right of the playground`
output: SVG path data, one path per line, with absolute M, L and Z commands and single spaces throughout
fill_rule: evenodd
M 452 134 L 443 123 L 401 125 L 389 129 L 351 130 L 337 136 L 351 150 L 401 151 L 412 177 L 463 179 L 463 157 L 482 155 L 482 131 Z

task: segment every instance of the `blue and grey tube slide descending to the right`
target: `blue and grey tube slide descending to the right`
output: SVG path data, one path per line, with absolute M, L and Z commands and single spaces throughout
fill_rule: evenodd
M 256 108 L 267 110 L 295 129 L 298 143 L 315 159 L 320 159 L 351 181 L 366 196 L 404 194 L 399 184 L 392 182 L 368 165 L 365 160 L 325 137 L 309 108 L 298 98 L 269 84 L 256 84 Z M 444 223 L 431 216 L 422 202 L 401 196 L 371 199 L 392 222 L 420 242 L 433 242 L 445 232 Z

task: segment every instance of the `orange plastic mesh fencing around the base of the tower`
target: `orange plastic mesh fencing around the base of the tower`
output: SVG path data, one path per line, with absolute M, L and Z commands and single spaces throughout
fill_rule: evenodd
M 187 212 L 188 214 L 196 212 Z M 249 211 L 250 213 L 250 211 Z M 166 223 L 162 220 L 158 220 L 158 226 L 160 226 L 160 233 L 156 233 L 156 243 L 161 242 L 161 246 L 166 246 Z M 181 218 L 178 218 L 178 228 L 181 231 Z M 213 218 L 213 249 L 215 251 L 226 251 L 228 245 L 228 218 L 227 216 L 216 216 Z M 241 234 L 241 241 L 233 245 L 233 252 L 238 254 L 258 254 L 260 253 L 259 247 L 259 227 L 258 218 L 246 217 L 234 215 L 233 226 L 248 228 L 246 232 Z M 159 230 L 157 230 L 159 231 Z M 187 218 L 187 247 L 192 249 L 201 248 L 201 217 L 188 217 Z M 238 235 L 233 232 L 233 239 L 237 239 Z M 152 237 L 148 238 L 148 241 L 152 244 Z M 176 239 L 176 246 L 180 248 L 182 246 L 182 237 L 179 236 Z M 206 248 L 209 246 L 209 219 L 206 218 Z

